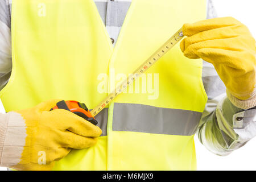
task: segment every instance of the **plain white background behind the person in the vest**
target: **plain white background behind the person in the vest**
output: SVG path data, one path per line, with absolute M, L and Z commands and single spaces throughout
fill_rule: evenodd
M 213 0 L 217 15 L 233 16 L 249 27 L 256 38 L 255 0 Z M 185 22 L 184 22 L 185 23 Z M 4 109 L 0 106 L 0 111 Z M 256 138 L 228 156 L 210 153 L 195 137 L 197 169 L 199 170 L 256 170 Z M 6 168 L 0 168 L 6 170 Z

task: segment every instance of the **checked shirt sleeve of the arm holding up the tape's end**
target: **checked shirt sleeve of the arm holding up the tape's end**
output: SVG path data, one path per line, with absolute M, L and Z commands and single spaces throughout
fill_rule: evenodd
M 217 14 L 208 0 L 207 18 Z M 199 140 L 211 152 L 228 155 L 256 135 L 256 107 L 243 110 L 226 97 L 226 88 L 212 64 L 203 62 L 202 75 L 208 101 L 199 123 Z

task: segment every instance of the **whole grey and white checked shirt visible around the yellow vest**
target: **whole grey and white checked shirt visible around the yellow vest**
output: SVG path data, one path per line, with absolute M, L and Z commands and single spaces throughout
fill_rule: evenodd
M 113 46 L 129 10 L 132 0 L 94 0 L 102 22 L 108 30 Z M 207 17 L 216 18 L 212 0 L 207 1 Z M 185 23 L 185 22 L 184 22 Z M 0 0 L 0 89 L 11 74 L 11 0 Z M 225 85 L 213 65 L 203 62 L 203 83 L 208 95 L 197 134 L 201 143 L 217 155 L 228 155 L 254 137 L 255 131 L 248 127 L 255 122 L 256 109 L 242 110 L 226 97 Z M 236 118 L 242 118 L 236 119 Z M 242 124 L 241 124 L 242 123 Z M 243 125 L 243 123 L 247 123 Z M 252 129 L 251 129 L 252 128 Z

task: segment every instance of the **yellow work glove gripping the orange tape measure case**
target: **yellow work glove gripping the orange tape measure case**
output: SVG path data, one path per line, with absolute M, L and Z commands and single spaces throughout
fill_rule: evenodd
M 15 111 L 24 119 L 27 136 L 20 162 L 12 168 L 49 170 L 71 148 L 87 148 L 96 144 L 101 129 L 70 111 L 49 111 L 58 101 L 50 100 L 31 109 Z M 46 164 L 42 164 L 44 162 Z

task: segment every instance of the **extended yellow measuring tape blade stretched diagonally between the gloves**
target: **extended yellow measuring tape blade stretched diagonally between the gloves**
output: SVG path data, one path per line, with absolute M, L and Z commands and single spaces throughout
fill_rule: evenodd
M 127 77 L 127 79 L 123 81 L 122 84 L 118 85 L 113 93 L 110 93 L 108 97 L 106 97 L 99 105 L 90 111 L 93 117 L 100 113 L 100 111 L 104 109 L 104 107 L 106 107 L 111 101 L 113 101 L 115 97 L 122 93 L 127 88 L 127 86 L 133 84 L 133 82 L 139 78 L 142 73 L 146 72 L 154 63 L 156 63 L 156 61 L 165 55 L 166 52 L 174 47 L 175 44 L 177 44 L 183 38 L 183 36 L 182 28 L 180 28 L 180 30 L 177 31 L 169 40 L 167 40 L 167 42 L 164 43 L 162 47 L 160 47 L 152 56 L 144 61 L 144 63 L 138 69 L 136 69 L 132 75 Z

